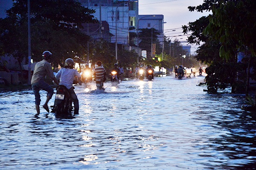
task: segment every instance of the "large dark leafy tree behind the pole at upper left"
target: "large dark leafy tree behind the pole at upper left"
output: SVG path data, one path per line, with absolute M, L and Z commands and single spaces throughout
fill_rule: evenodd
M 28 55 L 27 0 L 15 0 L 7 10 L 7 17 L 0 20 L 0 50 L 17 58 Z M 93 10 L 84 8 L 76 0 L 30 1 L 32 59 L 41 60 L 45 50 L 53 53 L 53 62 L 85 54 L 88 36 L 80 31 L 82 23 L 96 22 Z

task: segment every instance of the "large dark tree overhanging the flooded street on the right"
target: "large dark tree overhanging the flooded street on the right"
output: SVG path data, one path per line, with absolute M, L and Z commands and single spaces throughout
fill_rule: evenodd
M 215 68 L 230 68 L 228 65 L 233 65 L 236 68 L 236 72 L 239 71 L 240 63 L 236 62 L 238 52 L 245 52 L 251 54 L 251 57 L 255 57 L 256 47 L 255 47 L 255 21 L 256 21 L 256 2 L 253 0 L 207 0 L 197 7 L 189 7 L 190 11 L 197 10 L 201 11 L 212 11 L 212 15 L 207 18 L 200 18 L 198 20 L 199 24 L 189 23 L 189 28 L 184 26 L 183 30 L 186 33 L 187 30 L 192 31 L 195 35 L 189 37 L 189 42 L 204 42 L 205 44 L 198 49 L 198 59 L 204 59 L 205 62 L 211 62 L 212 67 L 208 70 L 208 77 L 218 79 L 221 77 L 221 72 L 218 72 Z M 205 25 L 205 23 L 208 23 Z M 211 51 L 216 51 L 218 56 L 213 54 Z M 204 54 L 210 54 L 204 57 Z M 221 63 L 221 65 L 220 65 Z M 227 67 L 222 67 L 226 65 Z M 213 67 L 215 66 L 215 67 Z M 248 60 L 248 67 L 250 68 L 250 59 Z M 234 70 L 234 69 L 232 69 Z M 248 69 L 249 70 L 249 69 Z M 208 85 L 215 87 L 215 91 L 218 88 L 218 84 L 235 82 L 236 74 L 229 74 L 227 76 L 233 75 L 230 79 L 232 81 L 226 81 L 228 79 L 222 79 L 221 83 L 216 83 L 217 81 L 208 81 Z M 213 76 L 214 75 L 214 76 Z M 247 85 L 248 85 L 247 77 Z M 215 85 L 212 82 L 216 83 Z M 233 83 L 236 84 L 236 83 Z M 222 86 L 223 87 L 223 86 Z M 236 89 L 235 87 L 232 88 Z M 233 91 L 234 92 L 234 91 Z M 247 93 L 247 92 L 246 92 Z

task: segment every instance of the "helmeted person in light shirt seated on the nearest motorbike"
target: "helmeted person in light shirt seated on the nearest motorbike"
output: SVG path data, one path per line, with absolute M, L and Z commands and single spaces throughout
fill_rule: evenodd
M 64 68 L 61 68 L 58 73 L 55 75 L 56 79 L 60 79 L 60 85 L 64 85 L 69 93 L 70 97 L 72 98 L 74 102 L 74 114 L 79 113 L 79 101 L 77 99 L 76 93 L 74 91 L 73 87 L 73 81 L 74 78 L 77 77 L 79 85 L 82 85 L 81 82 L 81 75 L 78 73 L 77 70 L 74 68 L 74 60 L 71 58 L 68 58 L 65 60 Z

